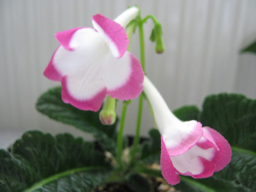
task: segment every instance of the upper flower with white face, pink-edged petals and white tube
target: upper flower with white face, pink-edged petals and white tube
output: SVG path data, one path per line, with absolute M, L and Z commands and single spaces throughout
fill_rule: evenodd
M 124 27 L 139 14 L 131 7 L 116 22 L 100 14 L 93 26 L 55 34 L 60 46 L 44 75 L 61 81 L 62 99 L 82 110 L 97 111 L 106 95 L 128 100 L 143 90 L 144 73 L 139 61 L 129 52 Z M 118 23 L 117 23 L 118 22 Z

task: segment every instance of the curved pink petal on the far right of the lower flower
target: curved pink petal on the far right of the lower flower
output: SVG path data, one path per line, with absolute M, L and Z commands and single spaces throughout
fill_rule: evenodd
M 219 151 L 217 151 L 215 154 L 212 162 L 216 164 L 215 172 L 220 171 L 231 161 L 232 151 L 230 144 L 218 131 L 211 129 L 210 127 L 204 127 L 204 129 L 206 129 L 211 134 L 219 148 Z

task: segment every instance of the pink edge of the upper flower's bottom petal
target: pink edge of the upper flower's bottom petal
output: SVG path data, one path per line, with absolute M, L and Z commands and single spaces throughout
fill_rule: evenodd
M 89 100 L 79 101 L 69 94 L 68 89 L 67 89 L 67 79 L 66 78 L 67 77 L 65 76 L 61 80 L 61 84 L 62 84 L 61 95 L 62 95 L 62 100 L 65 103 L 70 103 L 71 105 L 73 105 L 76 108 L 81 109 L 81 110 L 91 110 L 94 112 L 97 112 L 101 108 L 103 99 L 106 96 L 106 89 L 103 89 L 97 95 L 95 95 L 93 98 L 91 98 Z

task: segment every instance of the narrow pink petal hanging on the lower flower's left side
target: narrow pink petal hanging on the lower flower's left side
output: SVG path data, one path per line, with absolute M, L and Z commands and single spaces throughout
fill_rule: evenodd
M 163 138 L 161 137 L 161 171 L 163 178 L 170 184 L 170 185 L 176 185 L 180 182 L 180 176 L 176 172 L 175 168 L 173 167 L 172 161 L 169 157 L 169 154 L 167 152 L 165 142 L 163 141 Z

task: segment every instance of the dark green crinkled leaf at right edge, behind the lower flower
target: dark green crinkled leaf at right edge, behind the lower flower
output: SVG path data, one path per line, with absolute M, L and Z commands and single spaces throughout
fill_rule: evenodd
M 199 121 L 220 132 L 231 146 L 256 150 L 256 100 L 244 95 L 208 96 Z

